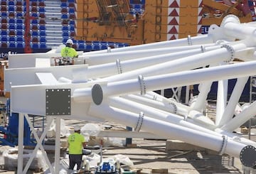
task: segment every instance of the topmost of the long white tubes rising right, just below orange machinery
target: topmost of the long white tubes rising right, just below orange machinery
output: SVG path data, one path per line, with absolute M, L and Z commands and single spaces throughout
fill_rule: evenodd
M 168 48 L 168 47 L 176 47 L 176 46 L 184 46 L 184 45 L 201 45 L 206 43 L 213 43 L 214 40 L 211 35 L 202 35 L 202 36 L 194 36 L 188 38 L 181 38 L 177 40 L 166 40 L 156 43 L 146 43 L 143 45 L 132 45 L 123 48 L 114 48 L 111 49 L 111 52 L 120 52 L 120 51 L 136 51 L 136 50 L 149 50 L 154 48 Z M 107 53 L 108 50 L 98 50 L 98 51 L 91 51 L 87 53 L 83 53 L 82 55 L 92 55 L 98 53 Z

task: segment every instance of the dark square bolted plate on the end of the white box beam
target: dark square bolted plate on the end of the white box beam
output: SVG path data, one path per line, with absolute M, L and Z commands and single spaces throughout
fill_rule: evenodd
M 46 89 L 46 116 L 71 114 L 71 89 Z

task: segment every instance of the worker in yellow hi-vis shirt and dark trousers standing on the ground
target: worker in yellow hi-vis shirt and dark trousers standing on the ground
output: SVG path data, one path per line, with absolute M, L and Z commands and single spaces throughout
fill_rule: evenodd
M 77 170 L 80 169 L 82 163 L 82 149 L 86 147 L 85 137 L 80 134 L 80 126 L 74 126 L 74 133 L 68 136 L 68 151 L 70 170 L 73 170 L 75 164 L 77 164 Z

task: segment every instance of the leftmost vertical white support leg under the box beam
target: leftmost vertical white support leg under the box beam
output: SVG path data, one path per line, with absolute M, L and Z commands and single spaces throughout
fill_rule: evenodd
M 24 116 L 18 113 L 18 166 L 17 173 L 23 173 L 23 138 L 24 138 Z

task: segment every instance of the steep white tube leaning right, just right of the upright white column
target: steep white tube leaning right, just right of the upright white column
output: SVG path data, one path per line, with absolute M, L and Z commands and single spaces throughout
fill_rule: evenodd
M 241 97 L 243 89 L 245 88 L 245 84 L 247 80 L 248 80 L 248 77 L 238 78 L 235 84 L 235 87 L 233 89 L 233 92 L 230 96 L 230 99 L 228 101 L 227 107 L 225 107 L 225 110 L 223 112 L 223 116 L 221 116 L 219 124 L 216 126 L 218 127 L 223 126 L 233 118 L 233 115 L 235 113 L 235 107 L 239 102 L 239 99 Z

